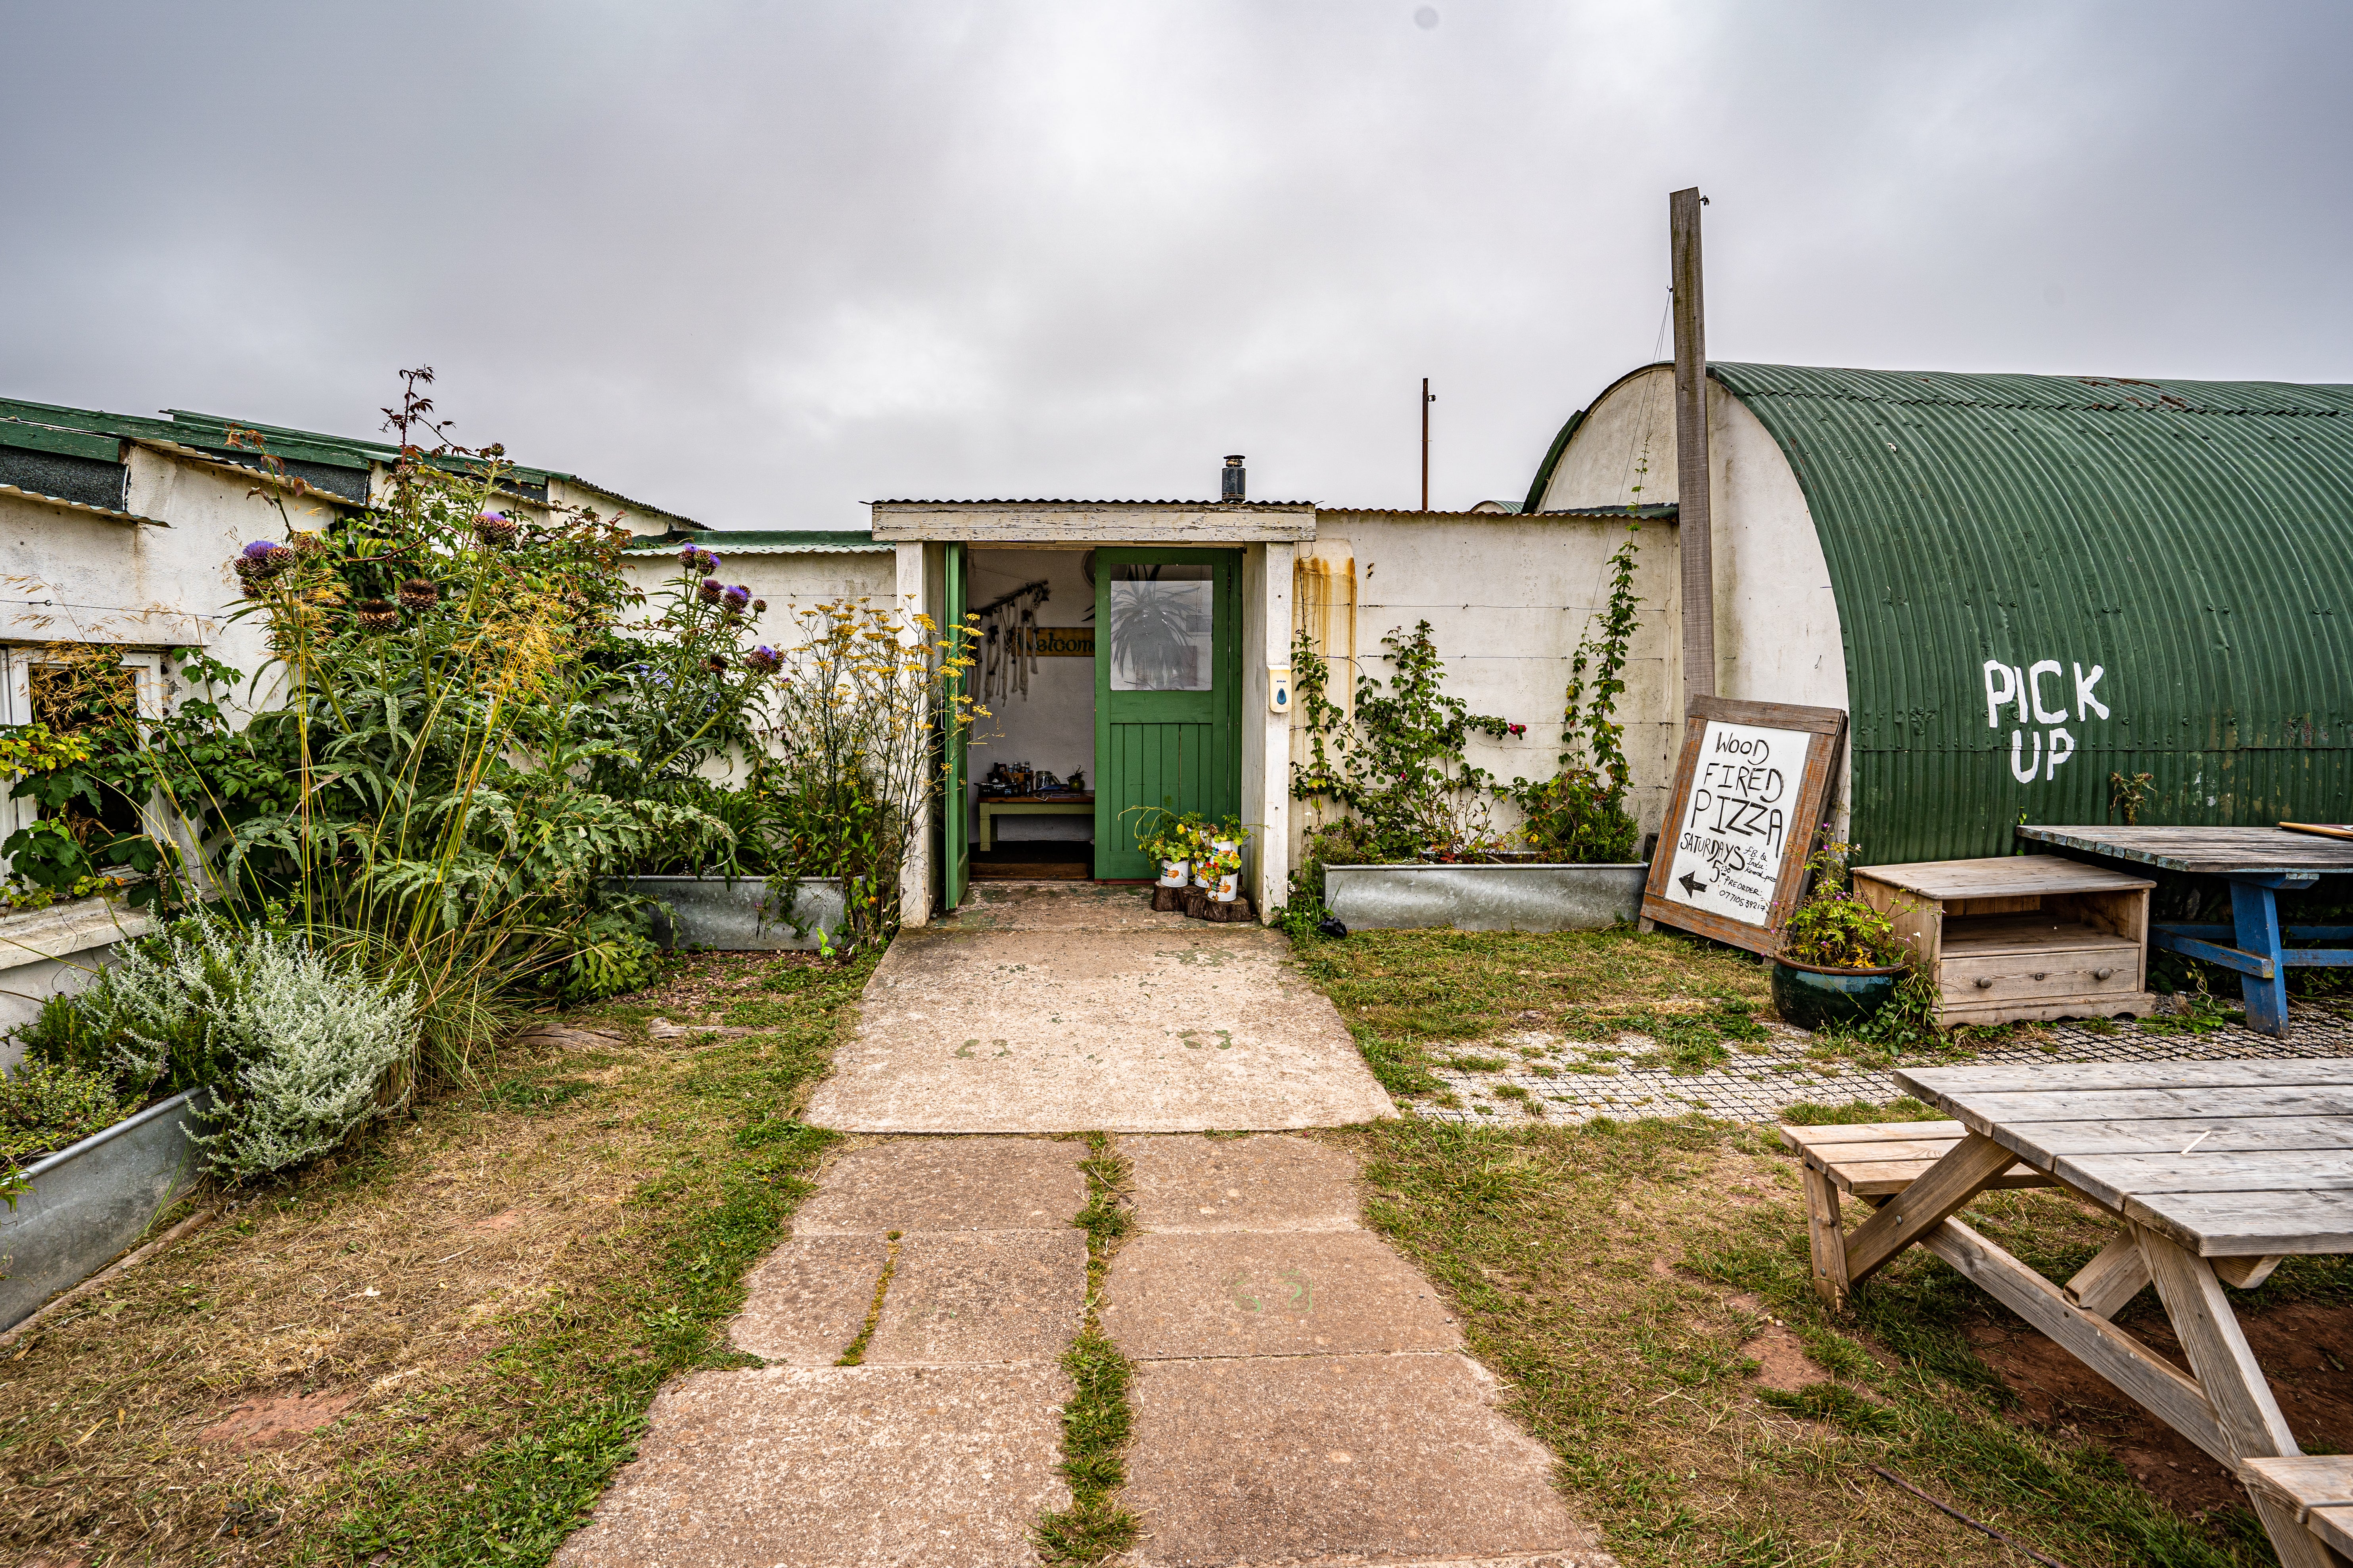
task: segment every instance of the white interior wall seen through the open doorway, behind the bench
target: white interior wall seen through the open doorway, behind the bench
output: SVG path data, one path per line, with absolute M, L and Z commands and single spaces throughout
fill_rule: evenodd
M 1094 588 L 1085 574 L 1085 550 L 972 550 L 967 607 L 1045 578 L 1047 602 L 1038 625 L 1094 625 Z M 972 670 L 979 691 L 981 670 Z M 1094 661 L 1049 656 L 1028 677 L 1028 696 L 984 696 L 986 719 L 972 726 L 972 783 L 1000 762 L 1028 762 L 1059 778 L 1073 771 L 1094 788 Z M 967 790 L 965 820 L 979 832 L 979 795 Z M 1094 825 L 1078 816 L 998 818 L 1000 839 L 1092 839 Z M 974 839 L 979 842 L 979 839 Z

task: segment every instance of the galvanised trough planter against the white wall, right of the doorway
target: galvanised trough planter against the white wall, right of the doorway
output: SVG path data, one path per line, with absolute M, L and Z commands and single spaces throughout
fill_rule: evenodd
M 1351 931 L 1600 931 L 1642 912 L 1647 865 L 1327 865 L 1325 905 Z

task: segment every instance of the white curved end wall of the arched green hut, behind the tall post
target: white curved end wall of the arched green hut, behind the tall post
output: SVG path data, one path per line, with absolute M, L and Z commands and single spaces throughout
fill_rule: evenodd
M 1612 388 L 1569 437 L 1546 510 L 1581 505 L 1657 505 L 1675 489 L 1675 374 L 1649 367 Z M 1645 463 L 1647 458 L 1647 463 Z M 1635 489 L 1640 487 L 1640 489 Z M 1781 444 L 1739 397 L 1708 383 L 1708 494 L 1713 501 L 1715 691 L 1758 703 L 1847 705 L 1847 654 L 1838 625 L 1831 567 L 1821 555 L 1805 491 Z M 1673 531 L 1666 559 L 1664 679 L 1654 691 L 1664 783 L 1682 708 L 1682 595 Z M 1626 693 L 1628 701 L 1635 696 Z M 1631 729 L 1628 729 L 1631 736 Z M 1631 755 L 1631 750 L 1628 750 Z M 1840 823 L 1845 823 L 1845 776 Z M 1664 802 L 1661 802 L 1664 806 Z M 1657 816 L 1642 818 L 1657 830 Z

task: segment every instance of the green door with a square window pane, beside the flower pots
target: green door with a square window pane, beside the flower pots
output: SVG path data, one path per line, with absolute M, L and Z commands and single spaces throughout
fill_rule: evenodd
M 1151 806 L 1242 809 L 1235 550 L 1094 552 L 1094 875 L 1155 877 Z

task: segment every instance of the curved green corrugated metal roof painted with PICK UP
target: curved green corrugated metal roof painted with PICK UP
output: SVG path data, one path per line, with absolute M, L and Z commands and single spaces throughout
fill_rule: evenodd
M 2120 823 L 2111 773 L 2155 776 L 2141 823 L 2341 820 L 2353 388 L 1711 374 L 1821 536 L 1866 860 L 2007 853 L 2021 816 Z M 2009 684 L 2031 691 L 1993 708 Z M 2054 745 L 2075 748 L 2057 773 Z

